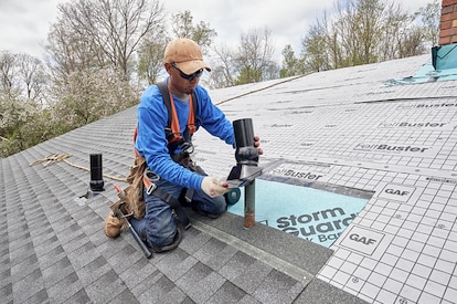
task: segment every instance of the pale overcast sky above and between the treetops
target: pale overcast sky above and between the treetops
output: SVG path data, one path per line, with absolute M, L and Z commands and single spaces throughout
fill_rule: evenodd
M 74 1 L 74 0 L 73 0 Z M 433 0 L 389 0 L 413 13 Z M 26 53 L 44 57 L 51 24 L 56 21 L 57 4 L 68 0 L 0 0 L 0 52 Z M 276 57 L 290 44 L 301 49 L 301 40 L 334 0 L 161 0 L 170 14 L 189 10 L 194 23 L 203 21 L 217 32 L 215 45 L 237 45 L 249 30 L 270 30 Z

